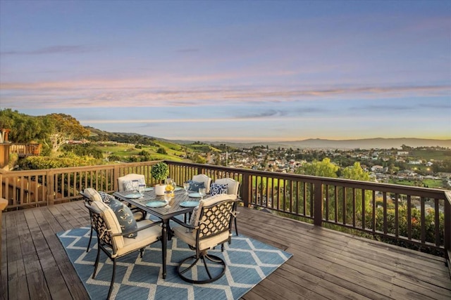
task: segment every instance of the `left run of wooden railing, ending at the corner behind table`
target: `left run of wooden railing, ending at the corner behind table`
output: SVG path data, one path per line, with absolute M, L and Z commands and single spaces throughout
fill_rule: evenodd
M 0 195 L 8 201 L 6 209 L 11 210 L 77 200 L 78 192 L 85 188 L 112 193 L 118 189 L 117 178 L 130 173 L 144 174 L 147 185 L 153 185 L 150 170 L 155 163 L 0 172 Z

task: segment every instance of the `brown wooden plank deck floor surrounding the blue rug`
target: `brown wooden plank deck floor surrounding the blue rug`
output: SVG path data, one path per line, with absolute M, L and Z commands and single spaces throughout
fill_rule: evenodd
M 3 214 L 0 299 L 88 299 L 55 233 L 83 202 Z M 445 259 L 240 207 L 240 233 L 294 254 L 243 299 L 451 299 Z

